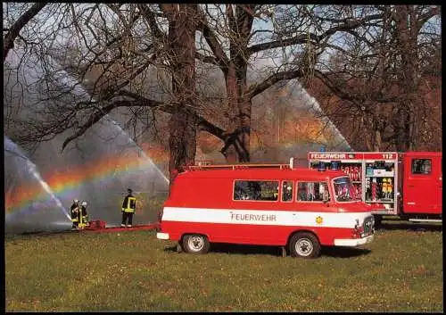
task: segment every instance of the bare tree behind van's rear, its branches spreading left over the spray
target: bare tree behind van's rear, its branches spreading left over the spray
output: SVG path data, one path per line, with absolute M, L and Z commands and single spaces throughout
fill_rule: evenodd
M 37 143 L 69 130 L 63 149 L 119 108 L 128 109 L 129 120 L 144 113 L 138 109 L 149 109 L 170 115 L 169 170 L 192 162 L 197 124 L 206 123 L 194 108 L 194 5 L 67 4 L 66 9 L 71 40 L 43 46 L 37 83 L 45 87 L 38 100 L 45 105 L 32 106 L 32 120 L 15 121 L 14 139 Z M 67 79 L 58 63 L 78 82 Z M 161 69 L 163 78 L 151 88 L 147 76 L 154 69 Z

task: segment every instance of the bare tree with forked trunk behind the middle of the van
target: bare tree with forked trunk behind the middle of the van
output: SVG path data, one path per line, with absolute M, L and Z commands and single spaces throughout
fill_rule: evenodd
M 202 19 L 202 36 L 211 54 L 198 54 L 197 57 L 203 62 L 217 65 L 226 81 L 227 103 L 231 110 L 228 112 L 222 153 L 229 162 L 250 160 L 253 97 L 281 80 L 309 79 L 318 56 L 324 52 L 332 36 L 382 17 L 379 13 L 355 17 L 340 7 L 330 9 L 341 12 L 339 18 L 332 18 L 326 7 L 312 6 L 310 10 L 306 5 L 277 6 L 277 30 L 253 29 L 254 19 L 273 20 L 275 9 L 268 5 L 228 4 L 225 12 L 217 6 L 217 18 L 214 18 L 217 22 L 214 25 L 211 26 L 211 13 L 208 12 L 207 17 Z M 219 21 L 224 21 L 223 25 Z M 291 25 L 289 21 L 292 21 Z M 268 33 L 269 37 L 259 37 Z M 227 39 L 227 49 L 220 43 L 219 36 Z M 277 49 L 283 53 L 277 54 Z M 286 58 L 286 51 L 293 55 L 291 60 Z M 260 54 L 272 54 L 273 60 L 277 60 L 277 54 L 283 62 L 275 65 L 274 71 L 265 78 L 248 85 L 248 67 L 252 59 Z

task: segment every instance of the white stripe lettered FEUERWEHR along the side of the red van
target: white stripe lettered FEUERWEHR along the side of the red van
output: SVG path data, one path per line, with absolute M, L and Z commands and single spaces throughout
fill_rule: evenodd
M 161 221 L 354 228 L 370 212 L 265 211 L 164 207 Z

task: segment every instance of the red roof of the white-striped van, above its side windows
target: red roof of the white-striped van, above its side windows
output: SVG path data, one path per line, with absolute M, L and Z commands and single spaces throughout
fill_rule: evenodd
M 336 178 L 346 176 L 342 170 L 311 170 L 305 168 L 298 169 L 203 169 L 186 170 L 179 173 L 181 178 L 246 178 L 246 179 L 314 179 L 325 180 L 326 178 Z

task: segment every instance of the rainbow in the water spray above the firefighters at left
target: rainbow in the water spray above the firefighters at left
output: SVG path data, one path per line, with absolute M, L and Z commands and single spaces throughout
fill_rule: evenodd
M 54 170 L 42 176 L 55 195 L 63 195 L 80 187 L 87 181 L 102 181 L 120 173 L 140 170 L 153 162 L 141 159 L 137 155 L 110 155 L 100 159 L 85 162 L 81 165 L 71 165 L 68 170 Z M 164 176 L 165 178 L 165 176 Z M 165 178 L 167 180 L 167 178 Z M 29 206 L 36 200 L 47 198 L 47 193 L 35 183 L 24 184 L 5 195 L 5 210 L 11 212 Z

